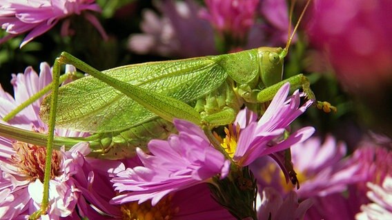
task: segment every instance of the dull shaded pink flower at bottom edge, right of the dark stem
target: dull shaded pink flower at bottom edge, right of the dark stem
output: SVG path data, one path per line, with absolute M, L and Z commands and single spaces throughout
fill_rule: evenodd
M 257 210 L 257 219 L 303 219 L 306 210 L 312 206 L 311 199 L 298 202 L 297 195 L 291 191 L 285 199 L 274 188 L 262 190 L 261 206 Z

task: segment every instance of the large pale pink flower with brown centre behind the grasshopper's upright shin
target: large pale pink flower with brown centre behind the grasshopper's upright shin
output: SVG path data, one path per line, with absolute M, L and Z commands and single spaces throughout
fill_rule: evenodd
M 37 76 L 34 70 L 28 67 L 25 74 L 13 77 L 15 99 L 2 89 L 0 91 L 1 117 L 52 80 L 50 67 L 46 63 L 41 63 L 40 76 Z M 37 100 L 28 109 L 21 111 L 8 124 L 45 132 L 46 126 L 41 126 L 43 122 L 37 114 L 39 102 L 40 100 Z M 7 122 L 1 121 L 1 123 Z M 56 130 L 56 133 L 77 137 L 86 136 L 85 133 L 59 129 Z M 90 153 L 90 148 L 87 143 L 83 142 L 73 146 L 70 151 L 61 148 L 60 151 L 53 152 L 49 188 L 50 208 L 48 214 L 43 216 L 44 218 L 94 218 L 101 216 L 99 212 L 111 216 L 119 214 L 118 210 L 108 203 L 108 197 L 114 196 L 114 191 L 111 190 L 108 176 L 101 175 L 103 172 L 100 171 L 115 169 L 119 166 L 119 162 L 101 160 L 98 169 L 92 166 L 97 164 L 95 159 L 90 160 L 85 157 L 88 153 Z M 43 146 L 0 137 L 1 219 L 26 218 L 39 209 L 43 192 L 45 157 L 46 148 Z

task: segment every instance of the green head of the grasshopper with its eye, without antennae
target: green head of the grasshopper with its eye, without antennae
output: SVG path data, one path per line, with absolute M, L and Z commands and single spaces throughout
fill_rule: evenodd
M 259 74 L 266 87 L 282 81 L 283 61 L 287 51 L 281 47 L 259 47 Z

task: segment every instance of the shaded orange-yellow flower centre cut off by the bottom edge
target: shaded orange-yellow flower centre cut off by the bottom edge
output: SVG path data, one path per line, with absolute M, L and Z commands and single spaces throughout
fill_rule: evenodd
M 122 219 L 126 220 L 169 220 L 179 212 L 179 207 L 172 205 L 173 194 L 170 194 L 151 206 L 150 201 L 138 204 L 137 201 L 121 205 Z

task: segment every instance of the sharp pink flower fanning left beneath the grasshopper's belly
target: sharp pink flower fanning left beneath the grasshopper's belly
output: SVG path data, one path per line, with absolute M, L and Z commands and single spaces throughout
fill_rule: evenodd
M 228 175 L 230 162 L 215 150 L 202 129 L 190 122 L 175 120 L 178 135 L 167 141 L 151 140 L 147 155 L 137 148 L 137 155 L 144 166 L 127 168 L 112 179 L 120 193 L 112 203 L 152 199 L 153 206 L 165 195 L 195 186 L 210 177 Z

